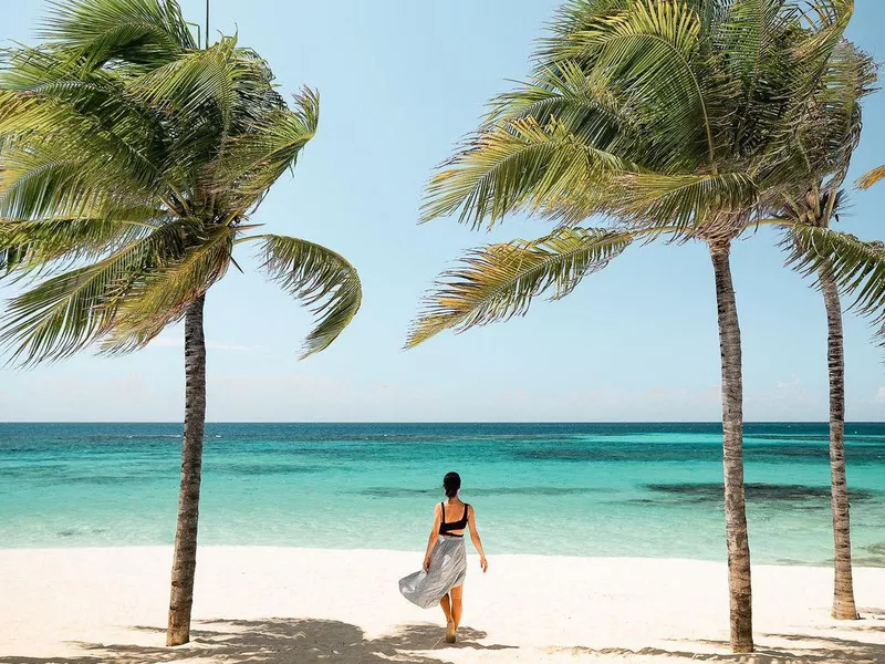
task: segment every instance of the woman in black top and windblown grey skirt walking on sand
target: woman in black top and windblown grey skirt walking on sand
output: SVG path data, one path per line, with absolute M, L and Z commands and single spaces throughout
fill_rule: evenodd
M 434 510 L 434 527 L 427 542 L 420 571 L 399 580 L 399 592 L 421 609 L 436 603 L 446 614 L 446 643 L 455 643 L 461 622 L 461 591 L 467 575 L 467 552 L 464 531 L 470 527 L 470 539 L 479 551 L 479 566 L 486 572 L 489 563 L 477 532 L 477 517 L 472 506 L 461 502 L 458 491 L 461 477 L 449 473 L 442 478 L 447 500 Z

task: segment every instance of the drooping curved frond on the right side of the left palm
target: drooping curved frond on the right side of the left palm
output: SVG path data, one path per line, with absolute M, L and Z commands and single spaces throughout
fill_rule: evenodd
M 319 317 L 301 357 L 326 349 L 363 302 L 356 269 L 331 249 L 299 238 L 262 235 L 247 239 L 261 241 L 263 270 L 270 278 Z

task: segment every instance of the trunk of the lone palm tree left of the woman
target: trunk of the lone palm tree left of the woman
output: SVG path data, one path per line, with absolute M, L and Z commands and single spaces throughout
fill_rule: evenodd
M 175 530 L 173 587 L 166 645 L 190 641 L 190 608 L 197 567 L 197 519 L 200 505 L 202 436 L 206 425 L 206 341 L 202 335 L 201 295 L 185 314 L 185 438 L 181 448 L 181 487 Z

